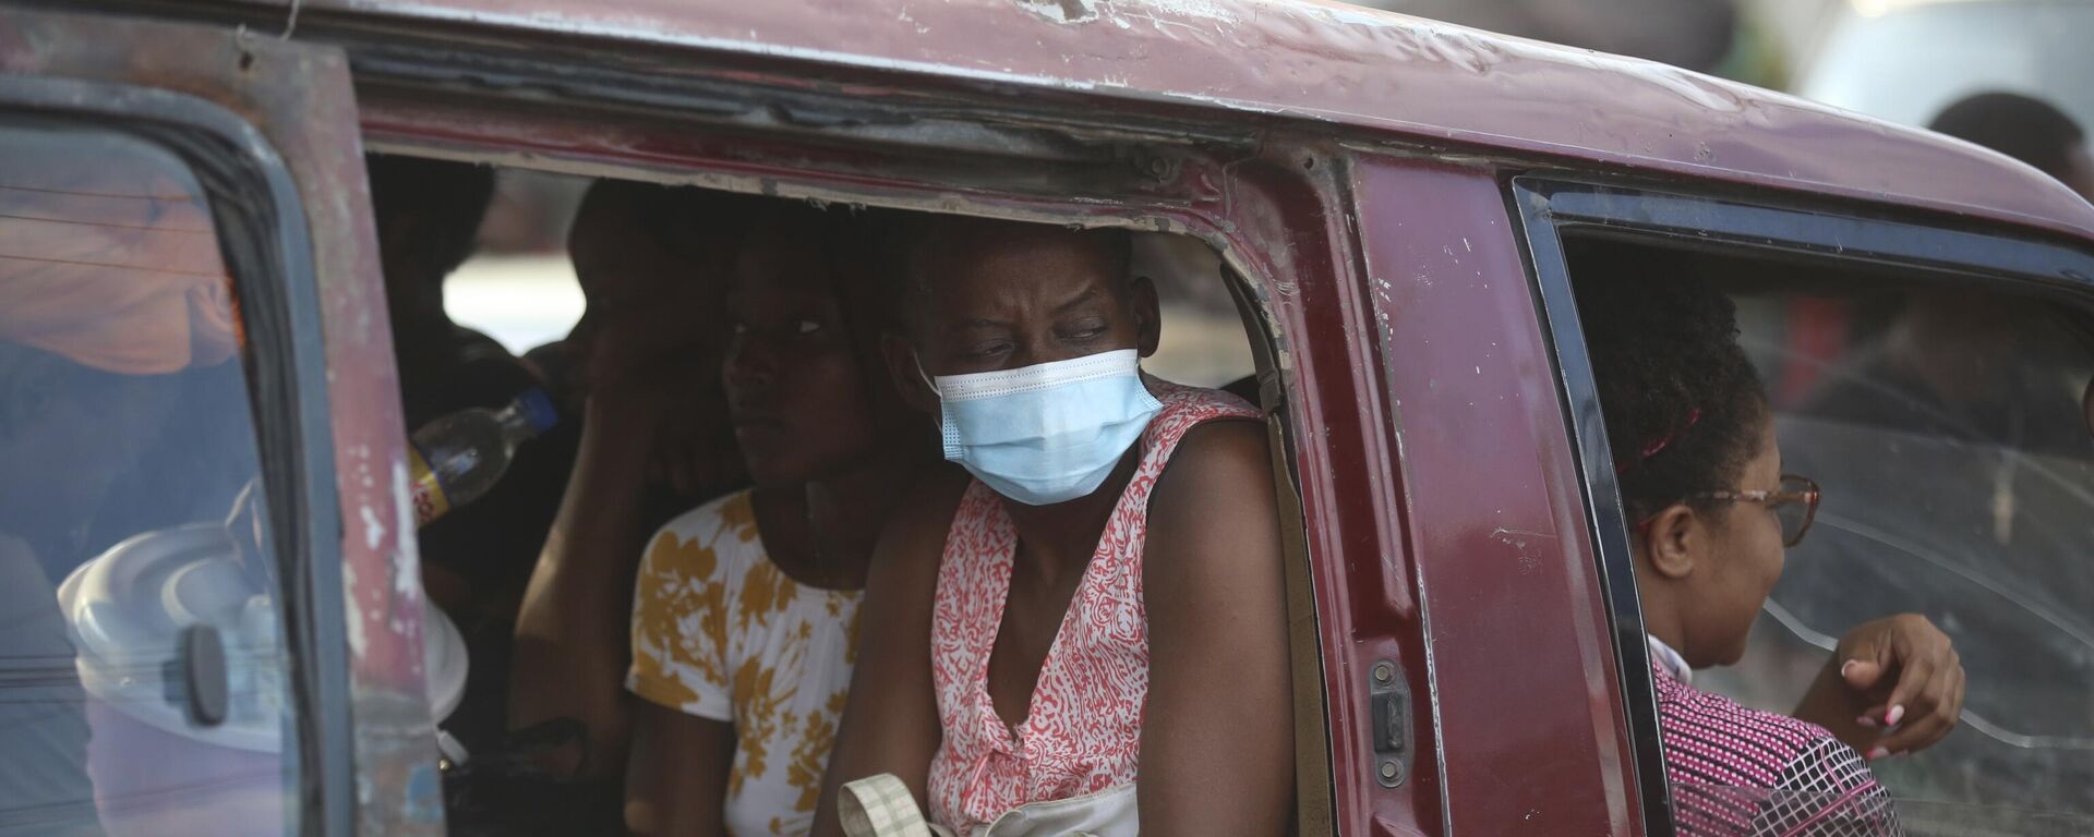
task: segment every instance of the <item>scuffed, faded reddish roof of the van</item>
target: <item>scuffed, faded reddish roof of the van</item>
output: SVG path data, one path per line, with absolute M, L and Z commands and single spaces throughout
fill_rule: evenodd
M 999 90 L 1181 103 L 2094 236 L 2094 207 L 2063 184 L 1958 140 L 1650 61 L 1323 0 L 304 0 L 302 6 L 364 21 L 452 21 L 526 38 L 603 38 L 928 73 Z

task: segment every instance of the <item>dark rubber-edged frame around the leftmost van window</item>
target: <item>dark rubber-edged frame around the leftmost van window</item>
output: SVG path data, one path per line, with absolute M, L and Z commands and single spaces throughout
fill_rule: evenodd
M 289 165 L 241 115 L 197 96 L 134 84 L 4 75 L 0 111 L 136 136 L 174 153 L 209 199 L 232 276 L 239 354 L 279 569 L 283 653 L 297 728 L 302 835 L 350 835 L 356 764 L 341 513 L 320 299 L 306 211 Z

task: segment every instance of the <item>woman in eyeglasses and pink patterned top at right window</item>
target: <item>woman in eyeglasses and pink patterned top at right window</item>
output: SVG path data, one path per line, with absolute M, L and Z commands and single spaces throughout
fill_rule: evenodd
M 1818 485 L 1782 473 L 1736 312 L 1713 287 L 1644 266 L 1581 285 L 1579 320 L 1631 525 L 1679 833 L 1899 833 L 1868 762 L 1956 726 L 1964 672 L 1950 638 L 1910 613 L 1862 624 L 1792 716 L 1696 691 L 1696 668 L 1744 655 Z

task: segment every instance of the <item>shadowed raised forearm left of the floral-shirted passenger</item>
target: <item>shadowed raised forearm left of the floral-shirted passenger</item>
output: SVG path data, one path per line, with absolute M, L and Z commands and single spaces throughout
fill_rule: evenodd
M 591 398 L 582 450 L 517 613 L 509 728 L 574 718 L 588 728 L 582 774 L 624 766 L 632 567 L 643 531 L 651 416 Z

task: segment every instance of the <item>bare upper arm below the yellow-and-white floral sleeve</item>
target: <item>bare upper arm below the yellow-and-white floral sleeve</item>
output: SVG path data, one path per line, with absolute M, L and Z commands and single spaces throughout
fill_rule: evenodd
M 626 762 L 626 833 L 725 835 L 733 762 L 733 724 L 639 701 Z

